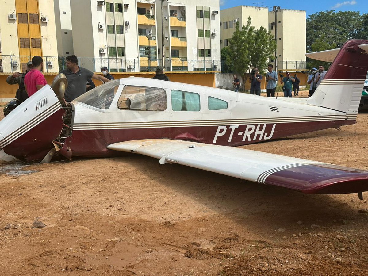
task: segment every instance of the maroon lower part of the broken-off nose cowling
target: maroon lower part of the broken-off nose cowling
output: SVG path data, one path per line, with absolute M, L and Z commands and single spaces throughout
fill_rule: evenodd
M 4 146 L 5 153 L 25 161 L 42 160 L 53 148 L 52 141 L 63 129 L 63 114 L 64 110 L 60 107 L 55 113 Z

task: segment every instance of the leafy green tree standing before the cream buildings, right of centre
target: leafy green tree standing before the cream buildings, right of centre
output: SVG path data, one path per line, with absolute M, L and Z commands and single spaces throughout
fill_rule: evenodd
M 232 66 L 234 72 L 238 72 L 243 79 L 243 89 L 246 81 L 246 72 L 251 64 L 259 66 L 260 70 L 266 67 L 266 63 L 275 52 L 276 42 L 270 31 L 262 26 L 255 29 L 251 26 L 252 18 L 248 17 L 247 25 L 239 28 L 239 22 L 235 25 L 233 37 L 229 39 L 229 49 L 226 64 Z

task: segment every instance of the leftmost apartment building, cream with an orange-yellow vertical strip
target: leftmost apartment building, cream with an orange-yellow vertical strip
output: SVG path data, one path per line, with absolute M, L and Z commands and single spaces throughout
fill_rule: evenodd
M 6 0 L 0 9 L 0 72 L 24 72 L 42 56 L 44 72 L 58 72 L 53 2 Z

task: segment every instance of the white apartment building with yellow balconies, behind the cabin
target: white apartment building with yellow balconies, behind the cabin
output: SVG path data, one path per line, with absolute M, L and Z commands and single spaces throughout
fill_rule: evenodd
M 158 65 L 166 71 L 220 69 L 219 0 L 201 4 L 70 1 L 73 52 L 93 71 L 102 66 L 110 72 L 155 71 Z

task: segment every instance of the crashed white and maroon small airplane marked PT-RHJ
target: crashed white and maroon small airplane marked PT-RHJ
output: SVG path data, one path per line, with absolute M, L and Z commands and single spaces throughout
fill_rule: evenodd
M 355 124 L 368 40 L 349 40 L 335 56 L 309 98 L 130 77 L 66 103 L 59 74 L 0 121 L 0 157 L 44 163 L 132 152 L 307 194 L 362 198 L 368 171 L 231 147 Z

